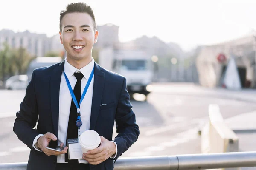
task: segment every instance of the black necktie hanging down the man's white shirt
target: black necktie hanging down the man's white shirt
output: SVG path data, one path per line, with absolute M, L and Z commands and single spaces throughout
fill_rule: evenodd
M 74 88 L 74 94 L 76 96 L 76 101 L 79 105 L 80 99 L 81 99 L 81 80 L 84 77 L 82 73 L 74 73 L 74 76 L 76 77 L 76 85 Z M 71 106 L 70 106 L 70 116 L 68 120 L 68 126 L 67 126 L 67 139 L 73 139 L 77 138 L 78 136 L 78 127 L 76 126 L 76 119 L 77 119 L 77 108 L 76 105 L 72 99 Z M 67 146 L 67 139 L 66 139 L 66 146 Z M 65 154 L 65 162 L 69 163 L 78 163 L 77 159 L 68 159 L 68 153 Z

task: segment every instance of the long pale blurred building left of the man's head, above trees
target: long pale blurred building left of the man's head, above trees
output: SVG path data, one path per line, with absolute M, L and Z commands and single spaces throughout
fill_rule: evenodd
M 62 51 L 63 45 L 59 40 L 59 35 L 47 37 L 46 34 L 36 34 L 29 31 L 17 32 L 3 29 L 0 31 L 0 50 L 6 42 L 11 48 L 26 48 L 29 54 L 35 56 L 45 56 L 48 51 Z

